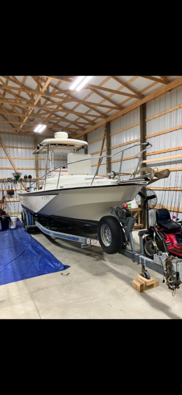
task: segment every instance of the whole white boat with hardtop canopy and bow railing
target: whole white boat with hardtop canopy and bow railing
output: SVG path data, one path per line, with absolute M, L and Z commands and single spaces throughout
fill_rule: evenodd
M 49 218 L 47 224 L 55 220 L 66 226 L 96 228 L 102 217 L 113 216 L 111 208 L 116 209 L 123 203 L 133 200 L 151 179 L 149 174 L 136 176 L 141 172 L 137 169 L 140 169 L 143 152 L 152 146 L 150 143 L 136 143 L 109 156 L 94 156 L 93 162 L 96 161 L 97 165 L 92 164 L 91 154 L 78 154 L 78 151 L 87 148 L 87 145 L 85 141 L 69 139 L 65 132 L 56 133 L 55 138 L 43 140 L 33 151 L 33 154 L 46 156 L 46 174 L 42 189 L 39 189 L 37 182 L 36 191 L 31 191 L 30 188 L 29 192 L 18 193 L 22 208 L 32 215 L 39 216 L 39 219 Z M 144 145 L 142 151 L 141 145 Z M 140 147 L 140 152 L 135 153 L 137 159 L 135 172 L 123 173 L 127 179 L 122 179 L 123 153 L 136 146 Z M 118 161 L 118 172 L 107 173 L 107 177 L 99 176 L 102 159 L 109 158 L 111 161 L 112 157 L 119 154 L 121 159 L 115 159 Z M 64 156 L 67 158 L 62 159 Z M 56 160 L 66 160 L 65 166 L 55 167 Z M 91 174 L 93 165 L 96 166 L 94 175 Z M 146 169 L 142 168 L 142 172 L 146 173 Z M 27 225 L 28 217 L 30 223 L 32 222 L 32 218 L 28 215 Z

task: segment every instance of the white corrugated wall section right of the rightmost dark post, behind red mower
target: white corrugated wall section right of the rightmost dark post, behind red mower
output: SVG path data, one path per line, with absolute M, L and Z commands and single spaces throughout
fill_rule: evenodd
M 152 151 L 161 152 L 147 157 L 151 160 L 147 164 L 158 170 L 171 169 L 168 178 L 158 180 L 151 188 L 157 195 L 157 207 L 167 207 L 171 213 L 171 218 L 175 221 L 177 217 L 182 220 L 182 213 L 178 211 L 179 207 L 182 208 L 182 170 L 180 169 L 182 168 L 182 150 L 170 151 L 170 149 L 182 147 L 182 108 L 180 106 L 182 106 L 182 88 L 169 92 L 146 106 L 147 136 L 164 132 L 161 135 L 149 138 L 152 143 Z M 151 120 L 148 119 L 161 112 L 165 112 L 165 114 Z M 168 152 L 162 152 L 164 150 L 168 150 Z M 178 156 L 178 158 L 173 158 L 175 156 Z M 164 159 L 158 160 L 158 158 Z M 161 188 L 161 190 L 155 190 L 155 187 Z M 174 207 L 176 207 L 176 210 Z M 152 210 L 150 217 L 150 221 L 154 224 L 155 210 Z

